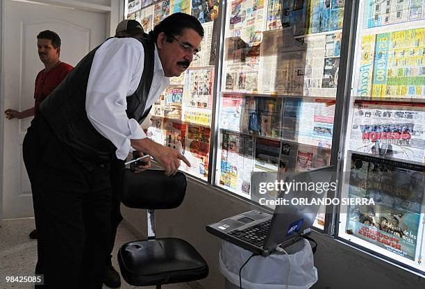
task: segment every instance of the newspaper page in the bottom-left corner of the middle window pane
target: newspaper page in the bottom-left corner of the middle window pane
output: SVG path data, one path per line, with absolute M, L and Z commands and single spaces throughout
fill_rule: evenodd
M 253 138 L 221 130 L 219 185 L 250 197 Z

